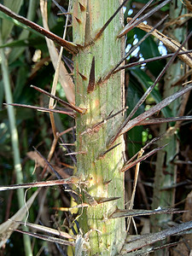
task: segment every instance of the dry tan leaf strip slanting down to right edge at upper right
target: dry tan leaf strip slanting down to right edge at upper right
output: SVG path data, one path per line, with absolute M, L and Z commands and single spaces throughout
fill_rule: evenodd
M 127 22 L 130 22 L 131 18 L 127 18 Z M 138 28 L 142 29 L 145 32 L 150 32 L 152 30 L 152 26 L 148 26 L 144 23 L 140 23 L 137 25 Z M 163 33 L 159 32 L 157 29 L 154 29 L 154 32 L 151 32 L 151 34 L 158 38 L 168 49 L 170 49 L 172 52 L 176 52 L 177 49 L 181 44 L 179 44 L 177 41 L 173 40 L 172 38 L 166 37 Z M 186 51 L 184 47 L 181 49 L 181 51 Z M 186 55 L 178 55 L 178 58 L 180 58 L 182 61 L 184 61 L 189 67 L 192 68 L 192 54 L 186 54 Z

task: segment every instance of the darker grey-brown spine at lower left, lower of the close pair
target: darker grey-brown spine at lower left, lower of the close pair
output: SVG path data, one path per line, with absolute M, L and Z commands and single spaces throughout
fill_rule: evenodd
M 42 239 L 44 241 L 56 242 L 56 243 L 59 243 L 59 244 L 63 244 L 63 245 L 67 245 L 67 246 L 73 246 L 73 247 L 75 246 L 75 243 L 73 241 L 67 241 L 67 240 L 64 240 L 64 239 L 57 238 L 57 237 L 46 236 L 46 235 L 27 232 L 27 231 L 23 231 L 23 230 L 15 230 L 15 229 L 13 229 L 13 230 L 17 231 L 17 232 L 20 232 L 21 234 L 25 234 L 25 235 L 28 235 L 28 236 L 33 236 L 33 237 Z

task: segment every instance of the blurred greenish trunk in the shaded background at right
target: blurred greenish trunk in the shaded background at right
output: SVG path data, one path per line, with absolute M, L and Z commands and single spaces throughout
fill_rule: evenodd
M 174 20 L 178 15 L 181 15 L 181 11 L 184 6 L 183 3 L 172 1 L 170 5 L 170 18 Z M 183 14 L 183 13 L 182 13 Z M 171 26 L 170 34 L 172 38 L 176 38 L 178 42 L 182 42 L 186 37 L 185 27 L 175 28 Z M 170 96 L 174 92 L 180 89 L 179 86 L 172 86 L 177 80 L 179 80 L 184 74 L 184 68 L 182 61 L 175 61 L 171 67 L 166 71 L 165 84 L 164 84 L 164 96 Z M 170 108 L 172 109 L 172 115 L 179 115 L 179 108 L 181 105 L 181 99 L 177 99 L 172 102 Z M 166 132 L 166 136 L 160 141 L 160 145 L 168 143 L 167 147 L 160 150 L 157 154 L 155 177 L 154 177 L 154 197 L 153 208 L 157 207 L 174 207 L 175 202 L 175 189 L 173 184 L 177 181 L 177 165 L 174 164 L 178 152 L 177 142 L 177 126 L 168 127 L 166 124 L 160 125 L 160 134 Z M 170 187 L 170 189 L 163 189 L 164 187 Z M 161 215 L 151 217 L 153 232 L 159 231 L 166 226 L 166 224 L 172 220 L 172 215 Z M 167 255 L 167 249 L 162 249 L 155 252 L 155 255 Z

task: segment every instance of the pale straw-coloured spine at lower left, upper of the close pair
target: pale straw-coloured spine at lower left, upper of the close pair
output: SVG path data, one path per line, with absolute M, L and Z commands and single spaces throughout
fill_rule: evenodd
M 54 230 L 54 229 L 51 229 L 49 227 L 45 227 L 43 225 L 25 223 L 25 222 L 22 222 L 22 221 L 15 221 L 15 222 L 18 223 L 18 224 L 21 224 L 21 225 L 25 225 L 25 226 L 30 227 L 30 228 L 35 229 L 35 230 L 39 230 L 39 231 L 43 231 L 45 233 L 49 233 L 51 235 L 61 236 L 63 238 L 67 238 L 67 239 L 75 239 L 73 236 L 71 236 L 68 233 L 63 232 L 61 230 Z

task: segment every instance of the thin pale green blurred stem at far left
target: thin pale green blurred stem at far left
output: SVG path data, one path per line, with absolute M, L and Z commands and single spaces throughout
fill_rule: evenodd
M 2 36 L 0 33 L 0 44 L 2 43 L 3 43 Z M 5 91 L 5 98 L 6 98 L 6 102 L 10 104 L 10 103 L 13 103 L 13 99 L 12 99 L 12 92 L 11 92 L 11 86 L 9 81 L 9 67 L 8 67 L 8 61 L 4 54 L 3 49 L 0 49 L 0 55 L 1 55 L 1 67 L 2 67 L 2 73 L 3 73 L 3 85 L 4 85 L 4 91 Z M 16 182 L 23 183 L 23 174 L 22 174 L 22 169 L 20 165 L 20 147 L 19 147 L 16 122 L 15 122 L 14 107 L 8 106 L 8 115 L 9 115 L 9 129 L 10 129 L 10 135 L 11 135 L 11 143 L 12 143 L 13 154 L 14 154 Z M 17 198 L 18 198 L 19 207 L 20 208 L 23 207 L 24 205 L 23 189 L 17 189 Z M 26 256 L 32 256 L 30 237 L 23 236 L 23 241 L 24 241 Z

